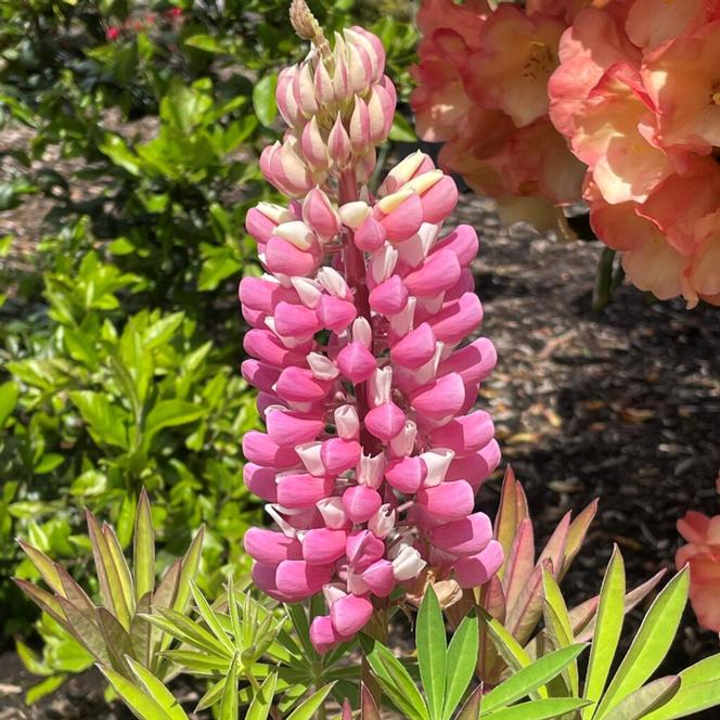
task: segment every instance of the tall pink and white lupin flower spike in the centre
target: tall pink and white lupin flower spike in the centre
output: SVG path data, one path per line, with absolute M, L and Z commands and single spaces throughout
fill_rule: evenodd
M 290 129 L 262 170 L 294 200 L 248 213 L 266 274 L 240 286 L 242 372 L 266 423 L 243 439 L 245 483 L 278 529 L 250 529 L 245 548 L 271 596 L 323 593 L 310 635 L 325 652 L 428 566 L 463 588 L 500 566 L 475 512 L 499 449 L 473 410 L 496 352 L 463 345 L 483 318 L 478 241 L 467 226 L 442 233 L 452 179 L 415 153 L 375 194 L 365 185 L 395 110 L 380 40 L 352 28 L 331 49 L 299 2 L 293 20 L 313 49 L 281 76 Z

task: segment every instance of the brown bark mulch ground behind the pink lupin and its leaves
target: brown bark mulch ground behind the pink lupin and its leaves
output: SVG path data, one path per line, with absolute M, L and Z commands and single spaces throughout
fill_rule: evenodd
M 3 232 L 38 217 L 27 205 L 22 217 L 13 213 L 0 214 Z M 472 195 L 462 197 L 457 218 L 481 237 L 474 266 L 485 307 L 481 332 L 500 358 L 480 404 L 496 420 L 502 466 L 512 463 L 525 485 L 540 539 L 564 512 L 601 498 L 588 542 L 564 582 L 569 601 L 597 592 L 613 543 L 622 551 L 631 584 L 671 568 L 678 517 L 691 509 L 720 512 L 720 312 L 650 304 L 630 286 L 593 312 L 597 243 L 541 236 L 525 226 L 507 230 L 490 201 Z M 27 224 L 23 236 L 37 241 Z M 488 512 L 500 478 L 499 470 L 481 491 Z M 637 627 L 638 618 L 633 614 L 630 625 Z M 689 610 L 663 670 L 717 651 L 717 635 L 698 630 Z M 22 698 L 34 681 L 15 656 L 0 657 L 0 720 L 127 717 L 103 705 L 95 674 L 28 709 Z

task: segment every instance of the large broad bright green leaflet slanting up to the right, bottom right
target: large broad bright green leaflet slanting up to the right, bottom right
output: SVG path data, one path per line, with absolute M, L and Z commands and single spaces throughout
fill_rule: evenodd
M 613 678 L 594 717 L 605 717 L 638 690 L 665 658 L 687 603 L 690 570 L 684 567 L 668 582 L 647 610 L 638 634 Z

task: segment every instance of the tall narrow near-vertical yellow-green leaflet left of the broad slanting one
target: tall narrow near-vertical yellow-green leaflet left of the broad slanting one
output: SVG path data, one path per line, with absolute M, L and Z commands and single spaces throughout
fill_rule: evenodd
M 597 606 L 597 620 L 595 635 L 588 661 L 588 673 L 583 697 L 593 705 L 582 710 L 582 720 L 592 718 L 594 703 L 596 703 L 605 687 L 615 650 L 620 639 L 625 607 L 625 565 L 622 555 L 615 547 L 613 556 L 607 565 L 603 584 L 600 590 L 600 604 Z

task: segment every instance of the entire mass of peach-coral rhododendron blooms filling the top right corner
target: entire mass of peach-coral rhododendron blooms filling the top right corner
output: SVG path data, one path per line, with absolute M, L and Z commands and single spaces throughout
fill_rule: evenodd
M 419 27 L 443 168 L 544 227 L 583 196 L 638 287 L 718 304 L 720 0 L 424 0 Z

